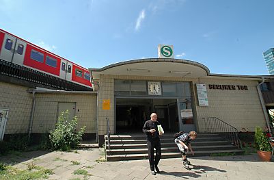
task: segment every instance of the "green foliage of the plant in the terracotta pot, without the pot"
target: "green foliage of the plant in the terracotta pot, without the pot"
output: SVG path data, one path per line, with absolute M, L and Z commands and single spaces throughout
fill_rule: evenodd
M 271 151 L 269 140 L 261 127 L 255 129 L 254 143 L 258 151 Z

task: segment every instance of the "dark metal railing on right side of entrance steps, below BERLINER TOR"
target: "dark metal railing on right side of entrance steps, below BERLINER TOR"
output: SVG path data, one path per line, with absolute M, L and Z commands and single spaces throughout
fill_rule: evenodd
M 235 127 L 216 117 L 202 119 L 204 120 L 205 131 L 207 133 L 218 133 L 221 137 L 238 146 L 238 149 L 242 149 L 241 140 L 238 138 L 238 130 Z

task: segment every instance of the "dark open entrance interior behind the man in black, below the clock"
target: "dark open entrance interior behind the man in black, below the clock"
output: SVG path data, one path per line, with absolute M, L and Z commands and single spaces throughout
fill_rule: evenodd
M 165 132 L 178 131 L 176 99 L 116 99 L 116 133 L 141 133 L 152 112 Z

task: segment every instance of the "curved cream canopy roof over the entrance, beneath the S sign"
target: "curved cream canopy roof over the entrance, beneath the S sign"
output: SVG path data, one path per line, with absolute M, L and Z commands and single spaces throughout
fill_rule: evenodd
M 179 59 L 151 58 L 118 62 L 103 68 L 90 68 L 93 79 L 100 75 L 135 75 L 156 77 L 205 77 L 209 69 L 198 62 Z

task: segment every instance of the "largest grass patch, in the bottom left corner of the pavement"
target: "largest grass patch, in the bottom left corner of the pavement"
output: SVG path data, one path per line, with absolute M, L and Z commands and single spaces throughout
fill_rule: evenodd
M 30 164 L 26 170 L 20 170 L 18 168 L 13 168 L 12 166 L 5 165 L 3 165 L 1 169 L 0 179 L 47 179 L 49 175 L 53 175 L 53 170 L 44 169 L 40 166 L 33 166 L 33 164 Z

